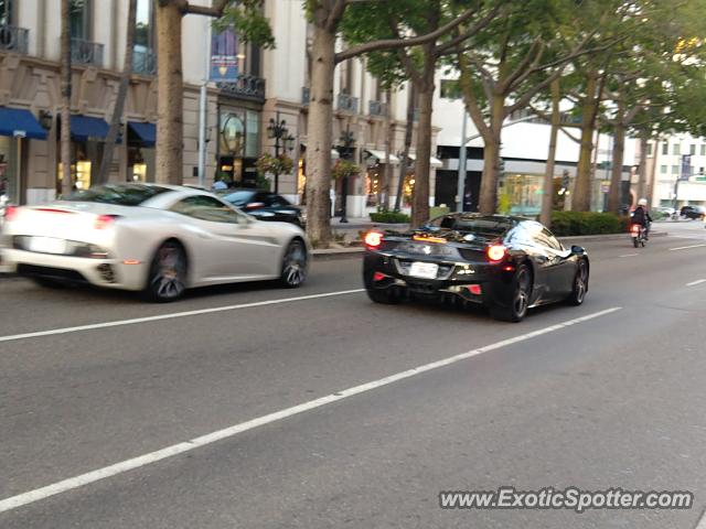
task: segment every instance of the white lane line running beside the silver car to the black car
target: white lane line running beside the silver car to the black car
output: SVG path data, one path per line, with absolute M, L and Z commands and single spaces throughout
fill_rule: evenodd
M 130 320 L 117 320 L 115 322 L 92 323 L 88 325 L 77 325 L 75 327 L 52 328 L 49 331 L 36 331 L 34 333 L 11 334 L 0 336 L 0 342 L 13 342 L 17 339 L 36 338 L 39 336 L 52 336 L 54 334 L 78 333 L 95 328 L 119 327 L 122 325 L 135 325 L 137 323 L 158 322 L 160 320 L 172 320 L 175 317 L 196 316 L 201 314 L 213 314 L 214 312 L 237 311 L 239 309 L 252 309 L 254 306 L 276 305 L 279 303 L 291 303 L 293 301 L 317 300 L 320 298 L 331 298 L 334 295 L 356 294 L 365 292 L 365 289 L 340 290 L 338 292 L 325 292 L 323 294 L 299 295 L 297 298 L 285 298 L 282 300 L 256 301 L 254 303 L 240 303 L 238 305 L 214 306 L 211 309 L 197 309 L 194 311 L 172 312 L 169 314 L 157 314 L 154 316 L 133 317 Z

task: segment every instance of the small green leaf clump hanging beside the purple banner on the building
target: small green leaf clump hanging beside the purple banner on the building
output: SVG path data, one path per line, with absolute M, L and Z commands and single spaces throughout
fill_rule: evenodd
M 263 0 L 232 1 L 213 26 L 216 31 L 233 30 L 243 42 L 252 42 L 266 50 L 275 48 L 275 35 L 263 12 Z

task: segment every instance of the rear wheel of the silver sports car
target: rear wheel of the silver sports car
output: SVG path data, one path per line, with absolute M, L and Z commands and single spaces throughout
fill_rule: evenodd
M 175 301 L 186 290 L 186 255 L 182 246 L 168 240 L 159 247 L 150 266 L 146 293 L 160 303 Z

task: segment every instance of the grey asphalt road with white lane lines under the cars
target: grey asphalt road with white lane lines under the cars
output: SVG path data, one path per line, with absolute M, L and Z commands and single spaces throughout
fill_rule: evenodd
M 360 258 L 314 263 L 295 291 L 169 305 L 0 279 L 0 528 L 693 529 L 706 229 L 660 228 L 644 249 L 587 244 L 586 303 L 520 324 L 372 304 Z M 441 490 L 501 486 L 695 506 L 439 508 Z

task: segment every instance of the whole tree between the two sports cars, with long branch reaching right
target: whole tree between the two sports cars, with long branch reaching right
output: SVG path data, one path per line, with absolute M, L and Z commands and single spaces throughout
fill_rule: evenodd
M 311 239 L 317 240 L 321 246 L 328 246 L 331 239 L 329 187 L 335 65 L 376 51 L 397 50 L 434 42 L 471 19 L 475 13 L 473 9 L 468 9 L 454 20 L 422 35 L 373 39 L 336 53 L 335 43 L 342 29 L 342 22 L 345 17 L 351 15 L 350 7 L 361 2 L 362 0 L 306 0 L 307 13 L 313 25 L 307 145 L 307 230 Z M 377 2 L 367 3 L 373 6 Z

